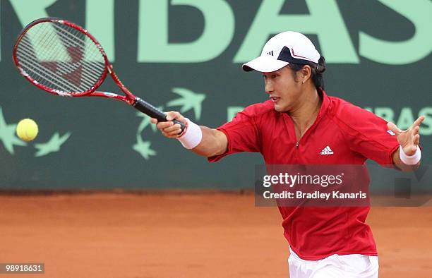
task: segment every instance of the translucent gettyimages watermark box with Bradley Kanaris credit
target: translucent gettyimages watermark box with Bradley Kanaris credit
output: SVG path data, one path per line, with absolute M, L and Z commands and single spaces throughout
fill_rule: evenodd
M 258 165 L 257 206 L 432 205 L 432 171 L 378 165 Z

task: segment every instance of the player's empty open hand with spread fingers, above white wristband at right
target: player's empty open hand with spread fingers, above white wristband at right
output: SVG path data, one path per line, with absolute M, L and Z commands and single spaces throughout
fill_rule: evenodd
M 416 121 L 406 130 L 402 131 L 395 123 L 388 123 L 387 126 L 390 131 L 393 131 L 397 136 L 397 141 L 402 146 L 404 153 L 408 156 L 414 155 L 417 146 L 420 142 L 420 124 L 424 121 L 425 116 L 419 116 Z

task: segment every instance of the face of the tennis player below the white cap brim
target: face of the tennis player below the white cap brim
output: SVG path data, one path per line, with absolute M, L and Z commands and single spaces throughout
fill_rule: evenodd
M 279 112 L 293 109 L 301 95 L 301 82 L 295 80 L 292 69 L 287 66 L 278 71 L 263 73 L 265 92 L 269 94 Z

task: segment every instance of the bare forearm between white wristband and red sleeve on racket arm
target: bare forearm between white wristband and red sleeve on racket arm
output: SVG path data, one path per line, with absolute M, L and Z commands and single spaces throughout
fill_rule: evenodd
M 222 155 L 227 151 L 227 135 L 222 131 L 208 128 L 207 126 L 200 126 L 200 128 L 203 132 L 203 138 L 196 147 L 191 149 L 192 152 L 204 157 L 213 157 L 215 155 Z

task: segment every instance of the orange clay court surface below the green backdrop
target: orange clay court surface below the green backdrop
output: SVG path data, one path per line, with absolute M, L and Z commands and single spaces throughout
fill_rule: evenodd
M 1 277 L 289 277 L 276 207 L 253 195 L 0 195 Z M 432 207 L 372 207 L 380 277 L 431 277 Z

